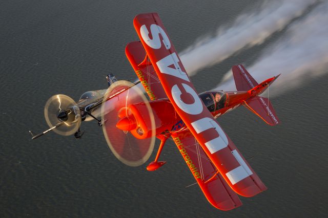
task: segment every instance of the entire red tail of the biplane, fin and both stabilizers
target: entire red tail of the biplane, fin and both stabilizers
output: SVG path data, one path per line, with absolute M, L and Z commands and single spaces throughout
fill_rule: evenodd
M 234 75 L 237 91 L 249 91 L 253 96 L 245 101 L 243 105 L 269 125 L 279 124 L 280 121 L 269 99 L 259 97 L 258 95 L 268 89 L 269 85 L 275 81 L 280 74 L 258 84 L 241 64 L 233 66 L 232 73 Z

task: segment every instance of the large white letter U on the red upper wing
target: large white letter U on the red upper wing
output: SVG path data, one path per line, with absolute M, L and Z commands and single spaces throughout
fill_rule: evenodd
M 213 119 L 209 117 L 204 117 L 195 122 L 192 122 L 191 125 L 194 127 L 197 134 L 210 128 L 214 128 L 219 134 L 217 138 L 205 143 L 211 154 L 214 154 L 216 151 L 228 146 L 228 138 L 226 134 L 223 132 L 222 128 L 217 124 L 217 122 L 215 122 Z

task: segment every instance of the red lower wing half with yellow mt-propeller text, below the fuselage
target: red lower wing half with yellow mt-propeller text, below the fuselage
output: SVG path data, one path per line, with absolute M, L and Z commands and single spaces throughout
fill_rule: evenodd
M 242 205 L 238 195 L 229 187 L 189 130 L 172 135 L 207 200 L 220 210 L 231 210 Z

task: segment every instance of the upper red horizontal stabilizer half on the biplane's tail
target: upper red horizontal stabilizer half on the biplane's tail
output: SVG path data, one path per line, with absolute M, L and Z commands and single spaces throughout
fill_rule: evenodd
M 258 85 L 256 80 L 241 64 L 232 66 L 232 73 L 234 75 L 237 91 L 248 91 Z

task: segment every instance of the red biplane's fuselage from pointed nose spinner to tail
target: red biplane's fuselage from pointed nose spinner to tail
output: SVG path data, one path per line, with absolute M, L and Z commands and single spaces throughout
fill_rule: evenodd
M 268 88 L 268 84 L 273 82 L 275 78 L 276 77 L 267 79 L 249 91 L 207 91 L 200 93 L 198 96 L 211 112 L 213 117 L 217 118 L 234 110 L 245 101 L 263 93 Z M 220 96 L 220 100 L 218 101 L 216 99 L 217 95 Z M 176 113 L 174 106 L 168 98 L 149 101 L 149 104 L 154 115 L 155 136 L 170 135 L 188 128 L 180 116 Z M 122 119 L 117 123 L 116 127 L 121 130 L 131 131 L 132 135 L 138 139 L 152 137 L 153 127 L 150 124 L 150 119 L 147 118 L 147 116 L 145 117 L 145 114 L 147 114 L 145 111 L 145 104 L 140 103 L 130 105 L 130 110 L 132 111 L 133 119 L 130 119 L 132 117 Z M 139 127 L 142 127 L 143 129 L 142 134 L 137 132 Z

